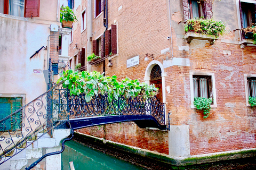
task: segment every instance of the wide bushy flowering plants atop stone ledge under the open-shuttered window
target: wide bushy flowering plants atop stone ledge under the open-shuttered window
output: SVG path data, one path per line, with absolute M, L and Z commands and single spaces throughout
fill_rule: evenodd
M 185 31 L 195 31 L 196 33 L 219 36 L 225 31 L 225 23 L 222 21 L 213 21 L 212 19 L 195 18 L 186 22 Z

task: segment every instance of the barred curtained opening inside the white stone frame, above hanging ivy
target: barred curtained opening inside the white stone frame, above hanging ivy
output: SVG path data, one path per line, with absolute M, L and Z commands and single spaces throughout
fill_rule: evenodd
M 193 75 L 194 97 L 212 98 L 212 80 L 208 75 Z

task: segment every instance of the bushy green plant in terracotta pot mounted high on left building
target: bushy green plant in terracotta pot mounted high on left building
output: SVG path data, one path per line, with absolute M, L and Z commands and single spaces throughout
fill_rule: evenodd
M 72 28 L 72 23 L 76 22 L 76 16 L 74 12 L 68 7 L 62 7 L 60 9 L 60 22 L 64 28 Z

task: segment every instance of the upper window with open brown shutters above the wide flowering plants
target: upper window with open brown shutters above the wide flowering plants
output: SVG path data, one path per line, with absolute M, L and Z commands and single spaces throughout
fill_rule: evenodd
M 184 20 L 187 21 L 193 18 L 212 18 L 212 3 L 211 1 L 200 0 L 182 0 Z

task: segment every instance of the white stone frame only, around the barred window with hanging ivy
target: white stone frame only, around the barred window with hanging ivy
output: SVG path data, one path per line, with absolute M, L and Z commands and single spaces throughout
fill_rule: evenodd
M 213 98 L 213 105 L 211 107 L 217 107 L 217 97 L 216 97 L 216 86 L 215 86 L 215 76 L 214 73 L 209 72 L 189 72 L 189 82 L 190 82 L 190 98 L 191 98 L 191 108 L 195 108 L 194 106 L 194 86 L 193 86 L 193 75 L 206 75 L 211 76 L 212 80 L 212 98 Z

